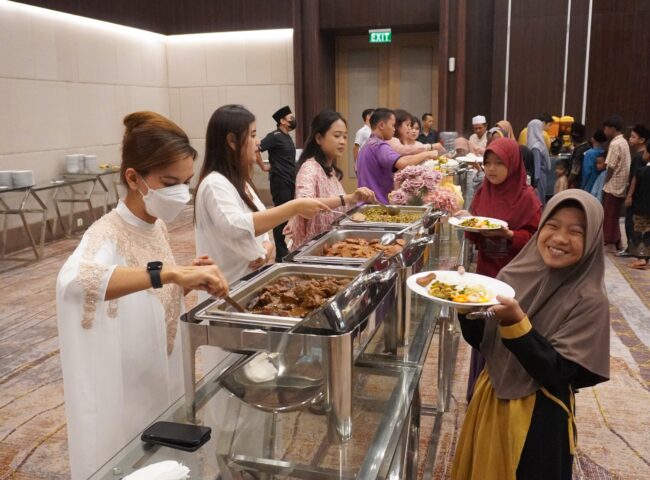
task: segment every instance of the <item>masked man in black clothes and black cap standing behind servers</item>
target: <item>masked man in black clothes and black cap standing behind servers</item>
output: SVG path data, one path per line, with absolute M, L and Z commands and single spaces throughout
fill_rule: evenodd
M 296 188 L 296 144 L 289 136 L 289 132 L 296 128 L 296 118 L 291 108 L 285 105 L 273 114 L 273 120 L 277 129 L 262 139 L 260 152 L 269 152 L 271 196 L 277 207 L 292 200 Z M 281 262 L 289 253 L 282 234 L 285 226 L 286 222 L 273 229 L 276 262 Z

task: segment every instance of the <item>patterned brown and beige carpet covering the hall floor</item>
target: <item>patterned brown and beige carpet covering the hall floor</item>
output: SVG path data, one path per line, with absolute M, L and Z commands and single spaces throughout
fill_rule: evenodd
M 179 263 L 193 257 L 191 216 L 171 230 Z M 0 480 L 69 478 L 54 285 L 77 239 L 46 246 L 40 262 L 0 264 Z M 612 346 L 609 382 L 577 395 L 576 479 L 650 479 L 650 271 L 608 256 Z M 191 305 L 194 297 L 188 299 Z M 437 348 L 422 382 L 424 403 L 436 393 Z M 449 411 L 442 415 L 433 475 L 450 478 L 465 412 L 469 348 L 461 341 Z M 421 471 L 435 417 L 422 420 Z

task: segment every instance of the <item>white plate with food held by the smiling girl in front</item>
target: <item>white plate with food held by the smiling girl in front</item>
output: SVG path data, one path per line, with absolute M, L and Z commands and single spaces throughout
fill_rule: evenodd
M 450 270 L 416 273 L 406 285 L 418 295 L 453 307 L 488 307 L 499 304 L 497 295 L 515 296 L 513 288 L 501 280 Z

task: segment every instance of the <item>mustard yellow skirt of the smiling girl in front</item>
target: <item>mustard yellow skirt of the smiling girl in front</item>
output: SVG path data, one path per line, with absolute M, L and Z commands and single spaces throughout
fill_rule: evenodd
M 532 393 L 516 400 L 498 399 L 483 369 L 467 408 L 451 478 L 515 480 L 535 397 Z

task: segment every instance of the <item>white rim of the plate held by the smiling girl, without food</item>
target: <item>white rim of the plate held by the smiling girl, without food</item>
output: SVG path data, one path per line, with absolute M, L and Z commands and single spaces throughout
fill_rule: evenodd
M 436 278 L 433 279 L 428 285 L 422 286 L 418 285 L 416 280 L 420 277 L 429 275 L 430 273 L 435 273 Z M 429 294 L 429 285 L 436 280 L 448 283 L 451 285 L 482 285 L 485 287 L 488 293 L 489 301 L 485 303 L 459 303 L 452 302 L 451 300 L 444 300 L 442 298 L 434 297 Z M 420 272 L 415 275 L 411 275 L 406 280 L 406 285 L 418 295 L 422 295 L 436 303 L 443 305 L 451 305 L 453 307 L 489 307 L 490 305 L 498 305 L 499 302 L 496 299 L 497 295 L 502 295 L 504 297 L 513 298 L 515 296 L 515 291 L 507 283 L 497 280 L 496 278 L 486 277 L 485 275 L 479 275 L 477 273 L 464 273 L 460 274 L 456 271 L 450 270 L 435 270 L 434 272 Z

